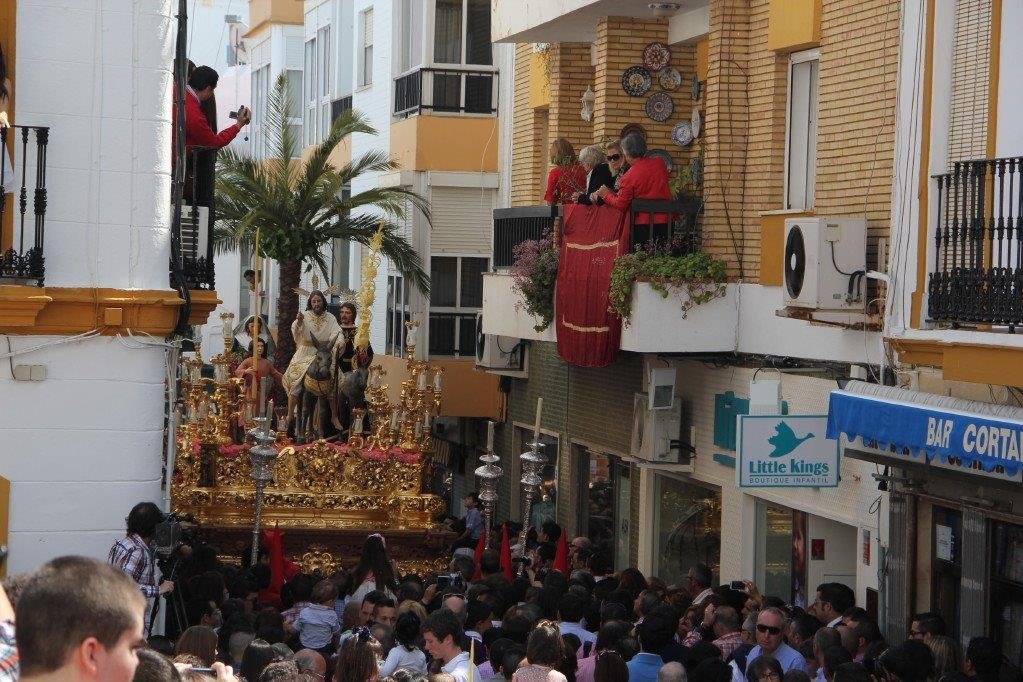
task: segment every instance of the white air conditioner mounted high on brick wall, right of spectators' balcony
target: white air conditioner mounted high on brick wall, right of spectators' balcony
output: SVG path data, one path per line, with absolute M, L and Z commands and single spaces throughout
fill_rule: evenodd
M 864 310 L 866 220 L 785 221 L 785 305 L 813 310 Z

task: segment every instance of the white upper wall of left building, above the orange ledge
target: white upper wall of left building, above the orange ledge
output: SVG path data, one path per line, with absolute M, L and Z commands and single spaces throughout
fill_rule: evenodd
M 94 4 L 17 8 L 14 119 L 51 127 L 46 283 L 166 289 L 174 3 Z

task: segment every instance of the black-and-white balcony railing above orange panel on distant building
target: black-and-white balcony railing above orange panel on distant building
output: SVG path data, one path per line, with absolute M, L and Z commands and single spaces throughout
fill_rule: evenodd
M 497 73 L 419 67 L 394 80 L 394 116 L 497 113 Z

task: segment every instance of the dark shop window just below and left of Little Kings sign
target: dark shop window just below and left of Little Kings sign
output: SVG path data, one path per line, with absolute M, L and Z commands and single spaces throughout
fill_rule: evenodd
M 681 584 L 690 566 L 706 563 L 715 575 L 721 557 L 721 494 L 667 475 L 655 478 L 654 575 Z

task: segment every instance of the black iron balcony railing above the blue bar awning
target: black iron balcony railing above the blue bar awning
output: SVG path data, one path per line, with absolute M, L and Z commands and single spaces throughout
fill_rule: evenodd
M 1023 156 L 957 162 L 938 189 L 928 317 L 1023 324 Z

